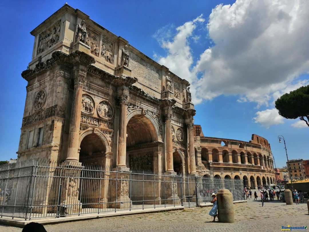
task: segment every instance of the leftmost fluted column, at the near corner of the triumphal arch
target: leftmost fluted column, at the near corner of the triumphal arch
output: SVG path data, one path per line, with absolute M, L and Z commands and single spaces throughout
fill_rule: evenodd
M 74 93 L 72 102 L 72 111 L 70 115 L 70 132 L 68 153 L 66 161 L 78 162 L 78 148 L 79 148 L 79 127 L 81 119 L 81 107 L 82 107 L 82 93 L 83 93 L 83 81 L 84 77 L 77 75 L 74 78 Z

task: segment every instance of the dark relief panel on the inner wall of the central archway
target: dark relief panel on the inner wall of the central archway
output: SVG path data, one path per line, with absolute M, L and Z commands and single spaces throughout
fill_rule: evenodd
M 153 153 L 129 154 L 130 169 L 153 170 Z

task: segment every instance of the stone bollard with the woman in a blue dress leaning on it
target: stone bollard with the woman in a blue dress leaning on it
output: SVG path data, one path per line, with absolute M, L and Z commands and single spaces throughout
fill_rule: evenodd
M 234 206 L 233 195 L 228 189 L 219 189 L 217 193 L 218 200 L 218 219 L 219 222 L 233 223 L 234 218 Z

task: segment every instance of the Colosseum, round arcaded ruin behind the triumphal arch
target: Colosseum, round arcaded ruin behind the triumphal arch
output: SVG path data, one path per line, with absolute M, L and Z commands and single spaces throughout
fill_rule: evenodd
M 194 147 L 197 170 L 205 177 L 242 179 L 251 188 L 276 183 L 270 144 L 259 135 L 249 142 L 206 137 L 194 125 Z

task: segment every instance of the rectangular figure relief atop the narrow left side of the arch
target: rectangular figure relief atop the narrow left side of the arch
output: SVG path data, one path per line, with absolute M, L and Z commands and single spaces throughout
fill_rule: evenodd
M 55 24 L 40 34 L 37 54 L 46 51 L 48 48 L 59 41 L 60 23 L 61 20 L 58 20 Z

